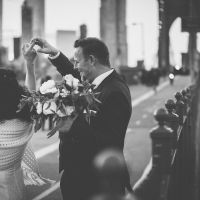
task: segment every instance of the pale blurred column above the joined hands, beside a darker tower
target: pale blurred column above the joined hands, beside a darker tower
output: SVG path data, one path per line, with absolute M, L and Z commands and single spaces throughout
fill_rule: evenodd
M 44 37 L 45 0 L 27 0 L 27 3 L 33 11 L 33 37 Z

